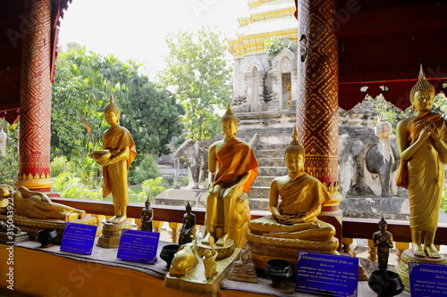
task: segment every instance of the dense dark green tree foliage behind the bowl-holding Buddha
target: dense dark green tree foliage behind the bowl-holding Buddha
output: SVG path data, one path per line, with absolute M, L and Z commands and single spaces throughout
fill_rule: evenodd
M 87 52 L 71 44 L 60 52 L 53 84 L 51 145 L 54 154 L 83 161 L 101 147 L 103 111 L 113 93 L 122 126 L 131 131 L 139 153 L 168 153 L 181 134 L 181 105 L 162 87 L 139 74 L 141 64 Z

